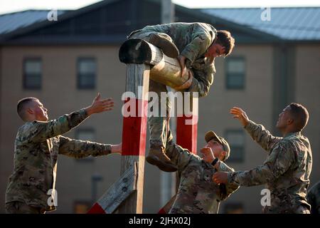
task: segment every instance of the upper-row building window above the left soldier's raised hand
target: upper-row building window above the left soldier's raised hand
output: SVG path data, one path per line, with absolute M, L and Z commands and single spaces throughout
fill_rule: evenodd
M 78 58 L 78 88 L 94 89 L 96 74 L 95 58 Z

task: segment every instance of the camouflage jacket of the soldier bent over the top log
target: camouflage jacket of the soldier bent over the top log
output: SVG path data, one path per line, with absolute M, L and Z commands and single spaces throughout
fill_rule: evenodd
M 198 92 L 199 97 L 208 94 L 213 83 L 215 65 L 214 59 L 210 61 L 204 54 L 217 37 L 213 26 L 205 23 L 171 23 L 146 26 L 139 31 L 169 35 L 181 56 L 186 57 L 186 66 L 193 71 L 193 81 L 187 91 Z

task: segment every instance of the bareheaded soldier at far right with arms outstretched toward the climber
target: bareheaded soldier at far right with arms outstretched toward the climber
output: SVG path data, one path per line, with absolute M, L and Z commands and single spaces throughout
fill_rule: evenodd
M 243 186 L 263 185 L 270 190 L 270 205 L 264 213 L 308 214 L 306 189 L 312 167 L 312 154 L 308 138 L 301 131 L 306 126 L 309 113 L 304 106 L 291 103 L 279 115 L 277 128 L 283 138 L 274 137 L 262 125 L 247 118 L 241 108 L 232 108 L 230 113 L 238 118 L 253 140 L 268 152 L 265 163 L 249 171 L 217 172 L 217 183 L 236 183 Z

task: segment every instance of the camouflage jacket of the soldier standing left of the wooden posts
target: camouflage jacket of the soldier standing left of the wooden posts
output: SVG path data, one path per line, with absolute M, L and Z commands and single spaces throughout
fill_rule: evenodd
M 48 190 L 55 189 L 58 154 L 70 157 L 107 155 L 111 145 L 61 136 L 87 118 L 84 109 L 48 122 L 33 121 L 18 129 L 14 145 L 14 173 L 6 189 L 7 202 L 24 202 L 45 210 Z M 54 192 L 54 191 L 53 191 Z M 52 196 L 54 197 L 54 196 Z

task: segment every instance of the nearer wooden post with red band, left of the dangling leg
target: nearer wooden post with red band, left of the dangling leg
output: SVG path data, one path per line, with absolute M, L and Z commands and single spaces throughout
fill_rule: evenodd
M 127 64 L 127 81 L 124 108 L 129 104 L 131 115 L 127 116 L 125 111 L 122 128 L 122 160 L 121 174 L 135 162 L 137 169 L 137 190 L 119 206 L 119 213 L 141 214 L 144 187 L 144 155 L 146 149 L 146 120 L 148 108 L 149 71 L 146 64 Z M 132 96 L 134 95 L 134 97 Z M 135 110 L 132 110 L 135 108 Z M 135 115 L 132 116 L 132 113 Z

